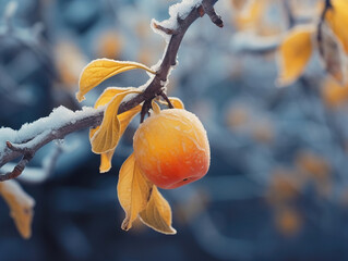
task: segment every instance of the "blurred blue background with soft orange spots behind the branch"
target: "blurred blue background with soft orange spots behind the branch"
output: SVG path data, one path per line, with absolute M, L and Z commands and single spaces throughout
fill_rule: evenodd
M 17 129 L 59 105 L 80 109 L 80 72 L 93 59 L 156 64 L 166 42 L 149 23 L 168 18 L 172 3 L 0 0 L 0 126 Z M 190 27 L 168 92 L 205 125 L 212 165 L 202 181 L 163 190 L 176 236 L 120 228 L 116 184 L 134 119 L 107 174 L 87 129 L 35 156 L 20 179 L 36 200 L 33 236 L 21 238 L 1 199 L 0 260 L 348 260 L 348 86 L 326 75 L 317 52 L 295 84 L 275 84 L 285 32 L 317 23 L 322 8 L 322 0 L 220 0 L 223 29 L 206 16 Z M 108 86 L 146 80 L 139 71 L 115 76 L 83 105 Z

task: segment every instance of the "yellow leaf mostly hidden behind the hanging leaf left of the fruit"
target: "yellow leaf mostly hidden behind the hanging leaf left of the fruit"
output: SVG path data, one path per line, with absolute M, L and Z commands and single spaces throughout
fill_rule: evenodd
M 141 105 L 134 107 L 133 109 L 123 112 L 118 115 L 118 119 L 120 121 L 120 137 L 122 137 L 124 130 L 127 129 L 128 125 L 132 121 L 132 119 L 142 110 Z M 108 172 L 111 169 L 111 160 L 112 156 L 115 153 L 115 149 L 110 150 L 106 153 L 100 154 L 100 167 L 99 172 L 105 173 Z

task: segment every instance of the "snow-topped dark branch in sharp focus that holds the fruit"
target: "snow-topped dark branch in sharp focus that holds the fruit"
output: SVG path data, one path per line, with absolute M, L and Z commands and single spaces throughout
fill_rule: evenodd
M 171 69 L 177 64 L 178 50 L 185 32 L 190 25 L 204 13 L 207 13 L 211 20 L 223 26 L 223 21 L 216 14 L 214 4 L 218 0 L 183 0 L 181 3 L 170 8 L 170 18 L 161 23 L 153 22 L 154 30 L 169 37 L 168 46 L 159 65 L 155 67 L 156 75 L 149 82 L 143 92 L 134 96 L 132 99 L 123 102 L 118 113 L 125 112 L 137 104 L 148 103 L 157 96 L 165 97 L 164 88 L 168 83 L 167 78 Z M 148 110 L 148 107 L 145 107 Z M 146 111 L 143 110 L 143 113 Z M 87 127 L 100 125 L 104 116 L 104 108 L 93 109 L 83 108 L 80 111 L 70 111 L 60 107 L 44 119 L 32 124 L 25 124 L 20 130 L 11 128 L 0 129 L 0 167 L 5 163 L 22 157 L 21 161 L 12 172 L 0 174 L 0 182 L 17 177 L 23 172 L 26 164 L 34 157 L 37 150 L 48 142 L 62 139 L 67 135 L 79 132 Z

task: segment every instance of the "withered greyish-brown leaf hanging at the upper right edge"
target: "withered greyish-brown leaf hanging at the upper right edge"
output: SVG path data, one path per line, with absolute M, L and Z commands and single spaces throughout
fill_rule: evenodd
M 338 38 L 333 30 L 323 23 L 321 26 L 320 53 L 327 73 L 340 85 L 346 83 L 346 55 Z

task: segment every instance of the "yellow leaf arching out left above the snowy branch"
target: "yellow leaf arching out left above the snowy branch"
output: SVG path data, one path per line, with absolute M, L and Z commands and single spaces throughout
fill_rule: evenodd
M 134 69 L 143 69 L 152 74 L 156 74 L 144 64 L 136 62 L 121 62 L 110 59 L 97 59 L 92 61 L 84 67 L 80 76 L 80 89 L 76 94 L 77 100 L 80 102 L 83 101 L 85 94 L 107 78 Z

